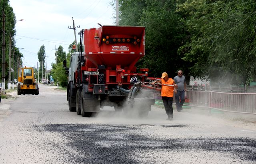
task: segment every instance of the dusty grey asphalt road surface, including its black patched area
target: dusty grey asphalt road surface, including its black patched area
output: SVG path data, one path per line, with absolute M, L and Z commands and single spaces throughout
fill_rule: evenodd
M 184 108 L 148 117 L 104 107 L 95 117 L 68 110 L 66 92 L 10 93 L 0 103 L 0 163 L 170 164 L 256 163 L 256 115 Z

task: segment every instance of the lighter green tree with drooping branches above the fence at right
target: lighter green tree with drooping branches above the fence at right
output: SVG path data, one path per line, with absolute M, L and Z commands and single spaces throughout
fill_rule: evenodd
M 253 0 L 187 0 L 178 5 L 189 33 L 179 48 L 193 63 L 190 73 L 231 84 L 256 79 L 256 2 Z M 224 80 L 222 80 L 224 82 Z

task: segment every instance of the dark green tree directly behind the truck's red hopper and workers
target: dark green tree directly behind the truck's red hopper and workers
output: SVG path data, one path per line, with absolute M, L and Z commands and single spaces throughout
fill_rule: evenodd
M 177 57 L 185 37 L 184 24 L 176 13 L 176 0 L 126 0 L 120 3 L 120 24 L 146 27 L 146 55 L 137 68 L 149 68 L 149 76 L 159 77 L 177 70 L 186 72 L 187 62 Z M 136 11 L 136 12 L 131 12 Z

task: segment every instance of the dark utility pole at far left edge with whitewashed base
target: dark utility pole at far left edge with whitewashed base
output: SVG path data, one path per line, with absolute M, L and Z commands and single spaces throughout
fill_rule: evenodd
M 2 11 L 2 30 L 3 30 L 3 36 L 2 36 L 2 93 L 5 93 L 5 51 L 6 51 L 6 45 L 5 45 L 5 14 L 4 10 Z

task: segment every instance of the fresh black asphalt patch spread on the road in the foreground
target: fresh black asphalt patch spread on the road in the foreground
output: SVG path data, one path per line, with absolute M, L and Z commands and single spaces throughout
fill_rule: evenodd
M 100 125 L 100 124 L 48 124 L 43 131 L 59 133 L 66 140 L 69 162 L 91 164 L 136 164 L 132 158 L 136 150 L 203 150 L 230 152 L 249 162 L 256 162 L 256 140 L 251 138 L 190 138 L 157 139 L 132 131 L 140 131 L 142 125 Z M 148 126 L 148 124 L 143 124 Z M 186 125 L 162 126 L 183 128 Z M 131 133 L 132 132 L 132 133 Z M 56 145 L 55 145 L 56 146 Z M 79 155 L 78 155 L 79 154 Z

